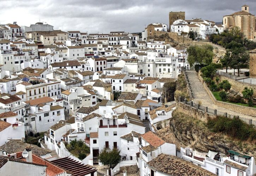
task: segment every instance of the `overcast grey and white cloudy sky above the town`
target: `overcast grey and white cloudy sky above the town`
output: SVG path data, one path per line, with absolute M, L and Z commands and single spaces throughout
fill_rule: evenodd
M 171 11 L 185 11 L 186 19 L 221 22 L 244 4 L 256 13 L 255 0 L 0 0 L 0 24 L 30 26 L 40 18 L 54 30 L 141 32 L 150 23 L 169 25 Z

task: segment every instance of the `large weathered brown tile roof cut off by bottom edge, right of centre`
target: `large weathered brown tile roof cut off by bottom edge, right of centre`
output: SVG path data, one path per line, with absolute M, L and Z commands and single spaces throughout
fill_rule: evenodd
M 166 175 L 177 176 L 214 176 L 212 172 L 201 168 L 185 159 L 178 158 L 177 156 L 160 154 L 156 158 L 147 163 L 150 168 L 162 172 Z

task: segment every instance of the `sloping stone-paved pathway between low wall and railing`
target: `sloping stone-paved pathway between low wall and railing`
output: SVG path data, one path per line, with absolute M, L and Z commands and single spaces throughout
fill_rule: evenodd
M 219 112 L 227 112 L 228 114 L 234 116 L 239 115 L 239 117 L 243 117 L 246 119 L 253 119 L 256 120 L 256 117 L 252 117 L 250 115 L 245 115 L 242 113 L 233 112 L 229 109 L 219 107 L 213 103 L 213 101 L 210 99 L 210 96 L 207 94 L 206 90 L 203 87 L 202 82 L 198 79 L 198 75 L 196 71 L 186 71 L 187 76 L 189 77 L 189 82 L 191 85 L 191 88 L 194 93 L 194 101 L 198 103 L 199 101 L 202 102 L 202 106 L 207 106 L 210 109 L 217 109 Z

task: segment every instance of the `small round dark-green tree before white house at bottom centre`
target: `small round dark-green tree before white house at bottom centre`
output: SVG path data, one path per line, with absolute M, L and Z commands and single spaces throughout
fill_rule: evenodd
M 112 166 L 114 167 L 121 161 L 120 152 L 119 149 L 107 149 L 104 147 L 100 150 L 98 159 L 103 165 L 109 165 L 112 168 Z

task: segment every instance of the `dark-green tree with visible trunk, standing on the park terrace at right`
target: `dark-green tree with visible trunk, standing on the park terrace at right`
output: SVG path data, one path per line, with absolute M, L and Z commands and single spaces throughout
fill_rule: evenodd
M 237 76 L 240 76 L 240 68 L 248 68 L 249 67 L 249 53 L 242 48 L 233 48 L 231 50 L 231 67 L 233 69 L 237 69 Z

